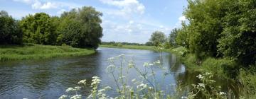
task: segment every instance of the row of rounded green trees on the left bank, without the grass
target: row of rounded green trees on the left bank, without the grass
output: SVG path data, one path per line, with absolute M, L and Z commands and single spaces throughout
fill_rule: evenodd
M 60 17 L 36 13 L 17 21 L 6 11 L 0 13 L 0 43 L 40 45 L 70 45 L 96 49 L 102 37 L 102 13 L 84 6 L 64 12 Z

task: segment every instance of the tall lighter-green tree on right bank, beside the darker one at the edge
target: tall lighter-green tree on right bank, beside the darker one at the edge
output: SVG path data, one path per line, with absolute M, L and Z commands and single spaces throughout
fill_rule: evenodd
M 184 15 L 189 21 L 186 30 L 189 50 L 198 57 L 201 57 L 201 53 L 211 57 L 217 56 L 225 8 L 223 0 L 188 0 Z

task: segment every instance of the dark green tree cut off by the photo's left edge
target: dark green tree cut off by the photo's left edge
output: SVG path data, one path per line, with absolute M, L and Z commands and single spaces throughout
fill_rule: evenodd
M 11 18 L 6 11 L 0 12 L 0 45 L 22 43 L 22 32 L 18 21 Z

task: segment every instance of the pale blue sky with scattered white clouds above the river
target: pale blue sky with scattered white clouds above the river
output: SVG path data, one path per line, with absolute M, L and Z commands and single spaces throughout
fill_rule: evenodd
M 103 13 L 102 41 L 145 43 L 154 31 L 166 34 L 181 27 L 186 0 L 0 0 L 0 10 L 20 20 L 39 12 L 60 16 L 64 11 L 92 6 Z

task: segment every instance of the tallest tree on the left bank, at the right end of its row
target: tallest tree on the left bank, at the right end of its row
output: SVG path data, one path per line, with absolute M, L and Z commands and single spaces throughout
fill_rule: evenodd
M 96 49 L 102 37 L 102 13 L 95 8 L 84 6 L 64 12 L 61 16 L 59 37 L 73 47 L 92 47 Z M 61 36 L 62 35 L 62 36 Z

